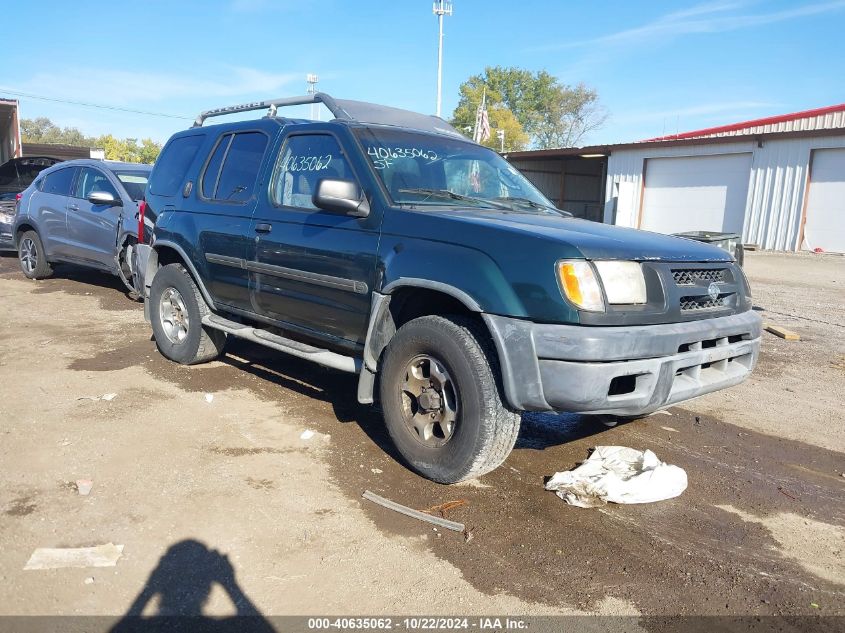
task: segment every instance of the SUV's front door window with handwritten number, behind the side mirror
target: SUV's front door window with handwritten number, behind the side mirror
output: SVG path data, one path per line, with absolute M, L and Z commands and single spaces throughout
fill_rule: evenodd
M 273 202 L 316 209 L 311 196 L 320 180 L 355 180 L 340 146 L 328 134 L 292 136 L 285 143 L 273 181 Z

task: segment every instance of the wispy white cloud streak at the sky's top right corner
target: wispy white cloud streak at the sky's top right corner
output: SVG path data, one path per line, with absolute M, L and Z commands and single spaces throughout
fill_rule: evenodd
M 696 33 L 722 33 L 783 22 L 812 15 L 834 13 L 845 9 L 845 0 L 833 0 L 799 5 L 769 13 L 742 13 L 747 6 L 741 2 L 708 2 L 689 9 L 660 16 L 656 20 L 632 29 L 625 29 L 593 39 L 558 42 L 533 47 L 532 51 L 554 51 L 594 46 L 630 46 L 642 42 L 665 41 Z

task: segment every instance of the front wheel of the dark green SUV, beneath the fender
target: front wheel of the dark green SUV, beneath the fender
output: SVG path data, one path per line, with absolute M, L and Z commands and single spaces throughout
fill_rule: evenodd
M 384 353 L 380 395 L 390 437 L 413 470 L 450 484 L 505 461 L 520 416 L 502 401 L 498 371 L 476 321 L 425 316 L 399 328 Z

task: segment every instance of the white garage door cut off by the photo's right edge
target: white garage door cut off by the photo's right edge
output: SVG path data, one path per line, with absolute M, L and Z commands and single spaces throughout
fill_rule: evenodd
M 811 250 L 845 253 L 845 149 L 813 152 L 804 242 Z

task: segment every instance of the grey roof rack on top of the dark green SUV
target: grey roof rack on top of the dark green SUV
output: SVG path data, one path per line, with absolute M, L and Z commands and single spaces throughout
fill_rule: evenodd
M 255 101 L 253 103 L 242 103 L 240 105 L 227 106 L 201 112 L 194 121 L 193 127 L 201 127 L 206 119 L 236 112 L 250 112 L 253 110 L 267 110 L 268 117 L 276 116 L 276 110 L 285 106 L 306 105 L 309 103 L 322 103 L 334 115 L 335 119 L 342 121 L 355 121 L 358 123 L 375 123 L 380 125 L 395 125 L 409 127 L 417 130 L 432 132 L 434 134 L 446 134 L 464 138 L 455 128 L 437 116 L 418 114 L 409 110 L 400 110 L 389 106 L 366 103 L 363 101 L 352 101 L 350 99 L 335 99 L 325 92 L 317 92 L 312 95 L 301 97 L 285 97 L 283 99 L 272 99 L 268 101 Z

